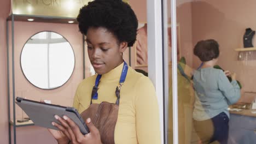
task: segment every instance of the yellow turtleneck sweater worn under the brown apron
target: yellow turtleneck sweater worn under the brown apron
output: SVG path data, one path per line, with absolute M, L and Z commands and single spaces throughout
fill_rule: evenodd
M 115 88 L 119 84 L 124 63 L 102 75 L 98 86 L 98 99 L 115 103 Z M 92 87 L 97 75 L 84 79 L 75 93 L 73 106 L 82 113 L 88 109 L 91 101 Z M 148 77 L 137 73 L 129 67 L 124 85 L 120 90 L 120 104 L 114 141 L 116 144 L 158 144 L 161 143 L 158 100 L 155 88 Z

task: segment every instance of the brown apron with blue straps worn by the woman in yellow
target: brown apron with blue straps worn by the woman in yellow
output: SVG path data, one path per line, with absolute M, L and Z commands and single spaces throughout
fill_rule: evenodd
M 125 62 L 124 62 L 125 63 Z M 124 68 L 126 67 L 126 74 L 127 74 L 127 64 L 124 64 Z M 123 73 L 121 75 L 123 76 Z M 119 82 L 119 86 L 115 89 L 115 95 L 117 96 L 117 101 L 115 101 L 115 104 L 113 103 L 108 103 L 103 101 L 101 104 L 92 104 L 92 99 L 94 95 L 97 93 L 98 87 L 94 86 L 92 88 L 92 93 L 91 93 L 91 105 L 89 106 L 88 109 L 83 111 L 81 113 L 82 118 L 84 121 L 86 121 L 87 118 L 91 118 L 92 123 L 95 125 L 95 127 L 100 131 L 101 135 L 101 142 L 104 144 L 113 144 L 114 142 L 114 131 L 115 131 L 115 124 L 117 123 L 117 118 L 118 118 L 118 109 L 119 109 L 119 99 L 120 99 L 120 89 L 121 86 L 123 85 L 123 81 Z

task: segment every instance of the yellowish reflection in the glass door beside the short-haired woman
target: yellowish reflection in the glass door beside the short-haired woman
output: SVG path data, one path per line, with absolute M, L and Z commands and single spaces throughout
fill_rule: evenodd
M 182 58 L 184 59 L 184 57 Z M 181 60 L 182 60 L 181 59 Z M 184 62 L 178 62 L 178 135 L 179 143 L 193 141 L 193 104 L 194 89 L 191 81 L 192 69 Z M 173 115 L 172 115 L 172 65 L 169 65 L 169 98 L 168 98 L 168 143 L 173 143 Z M 197 140 L 194 140 L 197 141 Z

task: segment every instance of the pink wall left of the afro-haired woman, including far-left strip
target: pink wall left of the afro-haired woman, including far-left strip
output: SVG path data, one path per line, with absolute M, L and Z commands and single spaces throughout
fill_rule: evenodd
M 6 61 L 6 38 L 5 38 L 5 19 L 9 14 L 10 2 L 1 2 L 0 27 L 0 65 L 1 65 L 1 116 L 0 119 L 0 143 L 8 143 L 8 101 L 7 101 L 7 61 Z M 15 22 L 15 94 L 20 97 L 40 100 L 49 99 L 54 104 L 71 106 L 75 89 L 83 79 L 83 41 L 82 34 L 78 31 L 77 25 L 60 23 L 38 23 L 38 22 Z M 28 82 L 22 74 L 20 68 L 20 53 L 27 39 L 40 31 L 54 31 L 65 37 L 71 43 L 75 54 L 75 69 L 71 79 L 60 88 L 46 91 L 36 88 Z M 10 47 L 11 49 L 11 47 Z M 11 92 L 12 93 L 12 92 Z M 16 116 L 21 118 L 21 109 L 16 106 Z M 12 117 L 12 115 L 11 115 Z M 18 143 L 56 143 L 48 130 L 35 126 L 20 127 L 16 129 L 16 140 Z

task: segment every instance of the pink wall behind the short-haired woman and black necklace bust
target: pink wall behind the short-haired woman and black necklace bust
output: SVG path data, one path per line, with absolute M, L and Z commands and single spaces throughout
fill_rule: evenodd
M 192 4 L 193 45 L 201 39 L 216 39 L 220 45 L 218 64 L 225 70 L 237 74 L 247 92 L 255 92 L 256 53 L 251 61 L 238 61 L 238 52 L 243 47 L 243 34 L 247 27 L 256 29 L 256 1 L 207 0 Z M 256 45 L 254 37 L 254 46 Z M 200 61 L 193 57 L 193 67 Z

